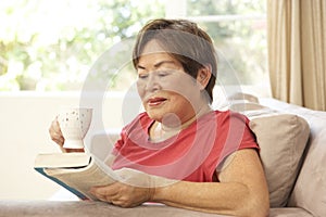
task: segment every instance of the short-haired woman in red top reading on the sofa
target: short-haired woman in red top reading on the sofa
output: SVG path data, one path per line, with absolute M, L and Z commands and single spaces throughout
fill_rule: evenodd
M 248 118 L 210 106 L 217 66 L 209 35 L 185 20 L 151 21 L 138 34 L 133 62 L 146 112 L 123 128 L 108 164 L 178 181 L 148 188 L 117 181 L 91 193 L 122 207 L 160 202 L 267 216 L 267 184 Z M 57 120 L 49 131 L 62 148 Z

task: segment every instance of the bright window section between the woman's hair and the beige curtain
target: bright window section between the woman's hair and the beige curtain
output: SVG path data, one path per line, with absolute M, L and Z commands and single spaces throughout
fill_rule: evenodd
M 168 14 L 197 22 L 213 38 L 220 84 L 268 88 L 264 0 L 181 0 Z

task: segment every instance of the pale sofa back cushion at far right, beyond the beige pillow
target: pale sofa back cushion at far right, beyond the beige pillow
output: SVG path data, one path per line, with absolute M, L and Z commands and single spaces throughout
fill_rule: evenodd
M 281 103 L 268 99 L 265 102 L 277 107 Z M 313 216 L 326 216 L 326 112 L 313 111 L 284 104 L 287 112 L 296 113 L 308 120 L 311 129 L 309 149 L 289 199 L 288 206 L 306 209 Z

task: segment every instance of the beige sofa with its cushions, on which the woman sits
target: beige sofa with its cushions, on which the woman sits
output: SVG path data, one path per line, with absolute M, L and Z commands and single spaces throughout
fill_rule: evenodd
M 326 112 L 271 98 L 233 95 L 214 105 L 246 114 L 261 146 L 269 189 L 271 217 L 326 216 Z M 108 146 L 115 131 L 93 136 L 91 148 Z M 99 153 L 100 155 L 101 153 Z M 95 201 L 0 201 L 0 216 L 223 216 L 162 204 L 121 208 Z

